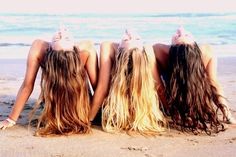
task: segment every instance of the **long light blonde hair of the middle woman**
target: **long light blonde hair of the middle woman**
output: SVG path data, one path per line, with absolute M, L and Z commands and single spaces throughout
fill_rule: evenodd
M 145 49 L 118 49 L 111 87 L 103 103 L 105 131 L 134 131 L 143 135 L 164 131 L 166 122 L 159 109 L 150 55 Z

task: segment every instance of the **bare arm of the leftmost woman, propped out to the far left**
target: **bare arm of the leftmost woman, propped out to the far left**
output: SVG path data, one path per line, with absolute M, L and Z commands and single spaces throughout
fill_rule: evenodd
M 17 121 L 26 101 L 33 91 L 36 75 L 39 69 L 39 63 L 43 58 L 43 52 L 48 47 L 47 43 L 41 40 L 35 40 L 30 48 L 27 58 L 27 68 L 24 81 L 18 91 L 15 104 L 12 108 L 9 118 Z

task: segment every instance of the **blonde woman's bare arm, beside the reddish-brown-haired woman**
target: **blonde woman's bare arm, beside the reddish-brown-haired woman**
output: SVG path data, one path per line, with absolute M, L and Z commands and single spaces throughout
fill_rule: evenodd
M 95 90 L 89 120 L 92 121 L 109 91 L 112 61 L 115 57 L 114 44 L 104 42 L 100 46 L 100 70 L 98 86 Z

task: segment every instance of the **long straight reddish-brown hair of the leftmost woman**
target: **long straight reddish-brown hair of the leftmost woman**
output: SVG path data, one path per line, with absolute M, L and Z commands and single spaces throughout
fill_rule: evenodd
M 89 94 L 86 72 L 78 51 L 49 49 L 43 64 L 41 93 L 36 108 L 44 104 L 36 135 L 89 133 Z

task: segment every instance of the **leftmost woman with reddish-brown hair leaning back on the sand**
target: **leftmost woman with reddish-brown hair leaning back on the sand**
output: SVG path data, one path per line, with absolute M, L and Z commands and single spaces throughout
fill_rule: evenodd
M 1 129 L 17 121 L 33 91 L 39 67 L 42 69 L 41 93 L 35 109 L 43 104 L 36 135 L 89 133 L 90 100 L 87 74 L 92 87 L 97 85 L 97 55 L 90 41 L 74 43 L 67 29 L 60 29 L 52 42 L 35 40 L 29 51 L 25 79 L 9 117 Z M 87 74 L 86 74 L 87 73 Z

